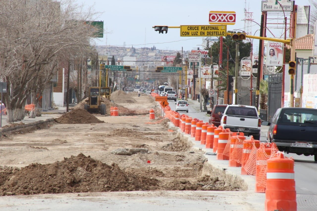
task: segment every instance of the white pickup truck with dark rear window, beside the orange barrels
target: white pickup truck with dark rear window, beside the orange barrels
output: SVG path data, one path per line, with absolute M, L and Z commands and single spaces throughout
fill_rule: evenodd
M 254 106 L 227 105 L 220 125 L 232 132 L 243 132 L 246 136 L 252 135 L 254 139 L 260 140 L 261 118 Z

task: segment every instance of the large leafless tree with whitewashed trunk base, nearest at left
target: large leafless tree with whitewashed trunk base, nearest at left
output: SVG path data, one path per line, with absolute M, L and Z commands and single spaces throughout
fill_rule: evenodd
M 24 118 L 29 93 L 41 95 L 58 68 L 84 54 L 97 29 L 95 14 L 73 0 L 0 0 L 0 76 L 6 81 L 8 122 Z M 75 52 L 75 53 L 74 53 Z

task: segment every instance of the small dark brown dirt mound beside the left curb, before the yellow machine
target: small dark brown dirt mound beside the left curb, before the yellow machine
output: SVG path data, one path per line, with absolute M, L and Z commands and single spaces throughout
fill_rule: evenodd
M 94 115 L 87 112 L 85 109 L 75 109 L 63 116 L 56 118 L 56 122 L 60 124 L 92 124 L 92 123 L 104 123 Z

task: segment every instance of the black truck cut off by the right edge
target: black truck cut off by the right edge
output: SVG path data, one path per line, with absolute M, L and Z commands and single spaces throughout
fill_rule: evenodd
M 317 161 L 317 109 L 279 108 L 269 125 L 267 140 L 286 153 L 314 155 Z

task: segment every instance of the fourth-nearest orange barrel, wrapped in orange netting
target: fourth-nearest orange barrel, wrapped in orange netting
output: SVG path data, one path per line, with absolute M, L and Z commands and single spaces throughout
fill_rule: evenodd
M 229 166 L 241 167 L 243 141 L 245 140 L 243 132 L 233 132 L 230 139 Z

